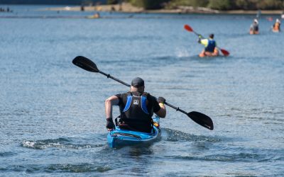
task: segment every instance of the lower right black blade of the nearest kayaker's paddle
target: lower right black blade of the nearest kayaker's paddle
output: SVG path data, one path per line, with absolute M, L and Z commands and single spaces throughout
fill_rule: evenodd
M 207 115 L 192 111 L 190 113 L 187 113 L 187 116 L 190 117 L 193 121 L 197 122 L 199 125 L 206 127 L 209 130 L 214 129 L 213 122 Z

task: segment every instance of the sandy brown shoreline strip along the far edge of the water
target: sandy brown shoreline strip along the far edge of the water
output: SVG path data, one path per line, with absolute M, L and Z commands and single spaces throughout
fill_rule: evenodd
M 94 11 L 94 12 L 121 12 L 121 13 L 178 13 L 178 14 L 190 14 L 190 13 L 200 13 L 200 14 L 231 14 L 231 15 L 255 15 L 258 11 L 245 11 L 245 10 L 230 10 L 230 11 L 217 11 L 210 8 L 202 7 L 190 7 L 190 6 L 178 6 L 177 9 L 158 9 L 158 10 L 144 10 L 136 6 L 131 6 L 131 4 L 123 3 L 121 6 L 119 4 L 115 5 L 98 5 L 98 6 L 84 6 L 84 11 Z M 40 11 L 82 11 L 81 6 L 65 6 L 60 8 L 44 8 Z M 281 15 L 283 10 L 261 10 L 263 15 Z

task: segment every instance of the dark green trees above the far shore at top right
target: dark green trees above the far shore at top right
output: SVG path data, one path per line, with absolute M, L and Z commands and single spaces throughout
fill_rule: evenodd
M 123 0 L 108 0 L 109 4 L 121 3 Z M 174 9 L 178 6 L 206 7 L 216 10 L 280 10 L 284 0 L 124 0 L 133 6 L 150 9 Z

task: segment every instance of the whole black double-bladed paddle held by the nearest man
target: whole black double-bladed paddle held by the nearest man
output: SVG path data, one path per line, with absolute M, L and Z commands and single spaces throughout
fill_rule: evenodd
M 100 74 L 107 76 L 107 78 L 114 79 L 115 81 L 118 81 L 119 83 L 124 84 L 125 86 L 129 86 L 129 87 L 131 86 L 129 84 L 126 84 L 124 81 L 121 81 L 119 79 L 114 78 L 113 76 L 111 76 L 109 74 L 101 72 L 97 68 L 97 65 L 94 64 L 94 62 L 92 62 L 92 60 L 87 59 L 86 57 L 82 57 L 82 56 L 75 57 L 75 59 L 73 59 L 72 63 L 75 64 L 77 67 L 80 67 L 84 70 L 87 70 L 88 72 L 99 72 Z M 199 124 L 203 127 L 206 127 L 209 130 L 214 129 L 212 119 L 209 118 L 207 115 L 204 115 L 204 114 L 196 112 L 196 111 L 192 111 L 190 113 L 187 113 L 187 112 L 185 112 L 185 110 L 181 110 L 180 108 L 175 107 L 175 105 L 171 105 L 170 103 L 166 103 L 166 102 L 165 102 L 165 105 L 168 105 L 171 108 L 174 108 L 175 110 L 186 114 L 193 121 L 197 122 L 197 124 Z

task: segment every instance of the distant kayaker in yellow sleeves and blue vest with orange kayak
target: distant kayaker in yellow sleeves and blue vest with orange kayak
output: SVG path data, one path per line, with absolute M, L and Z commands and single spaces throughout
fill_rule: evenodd
M 204 50 L 200 53 L 200 57 L 215 57 L 219 55 L 217 42 L 214 40 L 214 34 L 209 35 L 209 39 L 202 39 L 202 35 L 198 35 L 198 42 L 204 45 Z

